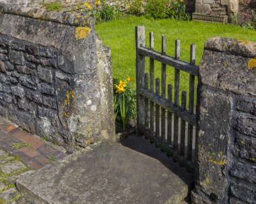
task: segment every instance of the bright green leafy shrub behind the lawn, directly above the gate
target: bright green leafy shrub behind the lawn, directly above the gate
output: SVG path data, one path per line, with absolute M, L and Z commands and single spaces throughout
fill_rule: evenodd
M 148 0 L 145 8 L 147 18 L 162 19 L 166 18 L 167 0 Z

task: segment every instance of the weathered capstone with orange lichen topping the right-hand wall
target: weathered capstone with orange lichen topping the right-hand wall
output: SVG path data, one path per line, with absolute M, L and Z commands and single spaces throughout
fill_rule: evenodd
M 202 83 L 236 94 L 256 96 L 256 69 L 249 68 L 249 61 L 256 56 L 253 44 L 255 42 L 230 38 L 207 40 L 200 62 Z M 237 75 L 240 80 L 237 80 Z

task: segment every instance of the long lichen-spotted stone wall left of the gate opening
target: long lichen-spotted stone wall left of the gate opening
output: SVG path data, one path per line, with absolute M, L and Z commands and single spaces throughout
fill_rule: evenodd
M 115 139 L 110 50 L 91 18 L 0 4 L 0 114 L 68 151 Z

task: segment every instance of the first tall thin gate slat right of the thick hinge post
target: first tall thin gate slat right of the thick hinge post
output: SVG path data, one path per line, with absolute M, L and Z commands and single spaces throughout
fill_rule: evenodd
M 150 48 L 154 49 L 154 33 L 150 32 Z M 154 92 L 154 59 L 150 59 L 150 91 Z M 150 101 L 150 129 L 154 130 L 154 102 Z

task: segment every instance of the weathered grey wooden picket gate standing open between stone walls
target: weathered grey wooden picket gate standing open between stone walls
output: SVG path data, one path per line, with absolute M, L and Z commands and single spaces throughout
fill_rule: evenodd
M 136 86 L 137 86 L 137 134 L 143 134 L 156 143 L 173 159 L 194 170 L 193 141 L 195 143 L 196 116 L 194 113 L 195 44 L 191 44 L 190 63 L 180 59 L 180 40 L 175 40 L 175 57 L 166 55 L 166 38 L 162 35 L 162 53 L 154 50 L 154 36 L 150 32 L 150 47 L 146 47 L 145 28 L 137 26 L 136 34 Z M 145 58 L 150 58 L 150 75 L 146 73 Z M 156 79 L 154 91 L 154 61 L 162 63 L 162 79 Z M 174 101 L 172 85 L 168 85 L 166 97 L 166 65 L 174 69 Z M 189 108 L 187 93 L 182 92 L 179 105 L 180 71 L 189 73 Z M 150 83 L 150 86 L 149 86 Z M 161 94 L 160 94 L 161 88 Z M 167 114 L 167 116 L 166 116 Z M 173 118 L 173 120 L 172 120 Z M 186 127 L 187 123 L 187 127 Z M 173 127 L 173 129 L 172 129 Z M 187 131 L 186 131 L 187 130 Z

